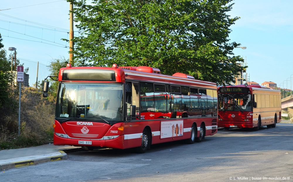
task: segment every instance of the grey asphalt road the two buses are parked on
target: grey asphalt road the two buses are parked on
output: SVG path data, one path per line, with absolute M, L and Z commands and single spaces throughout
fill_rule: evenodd
M 74 152 L 67 160 L 10 169 L 0 181 L 293 181 L 293 124 L 220 130 L 201 143 L 156 144 L 145 154 Z

